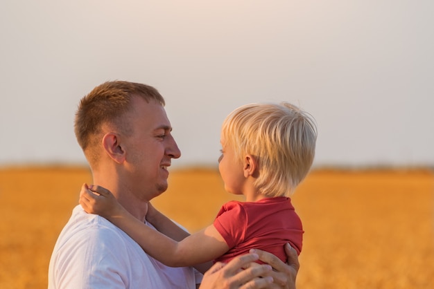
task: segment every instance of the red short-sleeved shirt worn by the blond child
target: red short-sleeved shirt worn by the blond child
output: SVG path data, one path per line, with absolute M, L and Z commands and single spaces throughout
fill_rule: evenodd
M 275 254 L 286 262 L 286 243 L 290 243 L 298 254 L 302 251 L 302 221 L 295 213 L 290 198 L 231 201 L 218 212 L 214 227 L 229 246 L 229 251 L 215 261 L 227 263 L 255 248 Z

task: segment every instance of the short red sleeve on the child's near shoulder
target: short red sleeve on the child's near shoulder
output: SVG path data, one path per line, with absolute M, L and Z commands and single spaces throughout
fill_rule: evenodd
M 223 205 L 214 220 L 214 227 L 230 248 L 245 239 L 247 216 L 243 204 L 231 201 Z

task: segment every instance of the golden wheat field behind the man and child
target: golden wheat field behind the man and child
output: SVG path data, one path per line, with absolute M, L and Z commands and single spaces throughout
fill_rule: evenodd
M 0 169 L 0 288 L 46 288 L 51 250 L 90 181 L 80 167 Z M 218 171 L 184 169 L 153 203 L 194 232 L 230 199 Z M 434 288 L 433 171 L 316 170 L 293 203 L 305 230 L 297 288 Z

